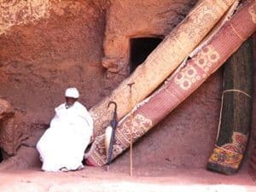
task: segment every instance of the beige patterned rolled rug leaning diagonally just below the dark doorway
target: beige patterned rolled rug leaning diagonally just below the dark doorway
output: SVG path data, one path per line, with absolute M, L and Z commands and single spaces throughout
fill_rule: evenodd
M 90 108 L 94 119 L 94 137 L 102 135 L 112 118 L 108 102 L 117 103 L 117 119 L 123 118 L 189 56 L 234 2 L 235 0 L 202 1 L 166 36 L 129 78 L 119 84 L 110 96 Z

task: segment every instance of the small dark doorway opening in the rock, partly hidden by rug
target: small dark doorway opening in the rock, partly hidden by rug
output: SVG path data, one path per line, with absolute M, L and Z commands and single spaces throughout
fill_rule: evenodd
M 130 73 L 132 73 L 148 55 L 160 44 L 161 38 L 131 38 Z

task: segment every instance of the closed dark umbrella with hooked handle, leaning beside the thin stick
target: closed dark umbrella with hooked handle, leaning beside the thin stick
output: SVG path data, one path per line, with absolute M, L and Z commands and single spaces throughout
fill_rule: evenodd
M 117 121 L 117 104 L 116 102 L 108 102 L 108 108 L 110 104 L 114 104 L 114 110 L 113 110 L 113 119 L 110 121 L 110 125 L 106 129 L 106 134 L 105 134 L 105 145 L 106 145 L 106 152 L 108 156 L 107 160 L 107 172 L 110 166 L 110 163 L 112 161 L 112 154 L 113 154 L 113 141 L 115 137 L 115 129 L 116 126 L 118 125 Z M 110 139 L 109 139 L 110 137 Z

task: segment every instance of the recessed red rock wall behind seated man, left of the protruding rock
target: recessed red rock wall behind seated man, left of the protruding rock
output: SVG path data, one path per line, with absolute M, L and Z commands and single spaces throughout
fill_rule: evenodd
M 20 113 L 19 125 L 9 129 L 9 149 L 1 146 L 7 154 L 15 154 L 21 144 L 16 134 L 26 146 L 35 146 L 68 86 L 78 87 L 87 108 L 104 96 L 107 8 L 103 0 L 1 1 L 0 98 Z

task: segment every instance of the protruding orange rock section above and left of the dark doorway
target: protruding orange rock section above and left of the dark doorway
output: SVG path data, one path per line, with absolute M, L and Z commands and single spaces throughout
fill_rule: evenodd
M 107 84 L 119 83 L 129 75 L 131 38 L 165 38 L 197 2 L 112 1 L 107 13 L 102 58 L 102 66 L 108 69 Z

